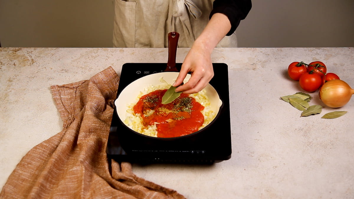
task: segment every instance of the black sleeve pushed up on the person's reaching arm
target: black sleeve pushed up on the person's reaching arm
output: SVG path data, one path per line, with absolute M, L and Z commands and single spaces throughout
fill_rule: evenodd
M 227 36 L 235 32 L 240 21 L 245 19 L 252 7 L 251 0 L 215 0 L 213 2 L 213 10 L 209 15 L 209 19 L 215 13 L 223 13 L 231 23 L 231 29 Z

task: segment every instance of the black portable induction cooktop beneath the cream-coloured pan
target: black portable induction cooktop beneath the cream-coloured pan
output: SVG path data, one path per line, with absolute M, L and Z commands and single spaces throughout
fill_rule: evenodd
M 181 63 L 177 63 L 179 70 Z M 120 92 L 142 76 L 163 72 L 166 63 L 126 63 L 122 66 L 117 97 Z M 223 105 L 211 124 L 177 139 L 143 136 L 125 126 L 114 110 L 107 143 L 107 155 L 118 162 L 211 164 L 231 157 L 231 130 L 228 67 L 213 63 L 214 77 L 210 84 L 218 92 Z M 123 105 L 125 106 L 125 105 Z M 129 136 L 126 136 L 129 135 Z

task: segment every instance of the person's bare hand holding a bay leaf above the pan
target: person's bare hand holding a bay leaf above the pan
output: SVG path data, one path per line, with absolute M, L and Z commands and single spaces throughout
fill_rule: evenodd
M 181 71 L 173 86 L 182 84 L 188 72 L 192 72 L 192 75 L 187 83 L 176 88 L 176 92 L 182 91 L 186 94 L 197 93 L 208 85 L 214 76 L 210 56 L 211 52 L 206 50 L 202 44 L 193 44 L 184 58 Z

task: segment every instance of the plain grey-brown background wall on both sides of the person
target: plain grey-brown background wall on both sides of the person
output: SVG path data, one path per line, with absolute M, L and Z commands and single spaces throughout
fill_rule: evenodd
M 239 47 L 354 47 L 353 0 L 253 0 Z M 0 0 L 2 47 L 112 47 L 114 0 Z

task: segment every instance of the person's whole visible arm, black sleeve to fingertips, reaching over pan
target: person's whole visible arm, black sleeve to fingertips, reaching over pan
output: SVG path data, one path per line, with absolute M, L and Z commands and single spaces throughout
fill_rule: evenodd
M 210 21 L 196 38 L 184 58 L 181 70 L 173 86 L 180 85 L 188 72 L 192 75 L 187 83 L 178 86 L 176 92 L 196 93 L 205 88 L 214 76 L 211 53 L 226 35 L 234 33 L 241 19 L 251 8 L 251 0 L 215 0 Z

